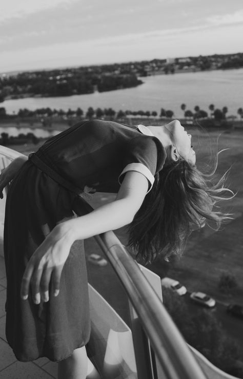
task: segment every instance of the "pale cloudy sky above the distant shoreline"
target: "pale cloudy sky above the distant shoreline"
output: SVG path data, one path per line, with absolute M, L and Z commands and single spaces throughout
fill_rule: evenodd
M 242 0 L 0 3 L 0 73 L 243 52 Z

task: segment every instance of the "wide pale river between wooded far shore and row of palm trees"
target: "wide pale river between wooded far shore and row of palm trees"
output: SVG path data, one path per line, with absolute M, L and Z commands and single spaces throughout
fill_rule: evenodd
M 228 115 L 236 115 L 237 109 L 243 107 L 243 68 L 154 75 L 141 79 L 144 84 L 135 88 L 65 97 L 28 97 L 7 100 L 0 106 L 5 107 L 9 114 L 17 113 L 20 108 L 34 110 L 43 107 L 66 111 L 80 107 L 85 112 L 90 106 L 111 107 L 115 111 L 141 109 L 159 112 L 160 108 L 165 108 L 173 110 L 175 117 L 183 116 L 182 103 L 192 111 L 196 105 L 207 112 L 211 103 L 215 108 L 227 106 Z

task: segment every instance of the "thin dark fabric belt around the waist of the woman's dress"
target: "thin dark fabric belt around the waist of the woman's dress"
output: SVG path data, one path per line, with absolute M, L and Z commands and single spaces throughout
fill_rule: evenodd
M 54 171 L 51 167 L 46 165 L 42 159 L 36 155 L 36 153 L 29 154 L 29 160 L 37 166 L 40 170 L 45 172 L 48 176 L 50 176 L 53 181 L 57 182 L 60 186 L 65 187 L 67 190 L 74 192 L 76 195 L 84 195 L 84 190 L 74 186 L 72 183 L 66 181 L 61 175 L 59 175 L 56 171 Z M 86 196 L 84 196 L 86 197 Z

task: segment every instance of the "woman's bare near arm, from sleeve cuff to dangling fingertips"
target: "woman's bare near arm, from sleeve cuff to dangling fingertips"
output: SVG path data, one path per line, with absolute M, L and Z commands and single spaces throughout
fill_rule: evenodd
M 35 304 L 39 304 L 40 297 L 45 302 L 49 300 L 50 284 L 54 296 L 57 296 L 60 276 L 73 242 L 129 224 L 147 191 L 147 178 L 139 172 L 129 171 L 114 202 L 58 224 L 34 252 L 26 267 L 21 289 L 23 300 L 27 299 L 30 286 Z

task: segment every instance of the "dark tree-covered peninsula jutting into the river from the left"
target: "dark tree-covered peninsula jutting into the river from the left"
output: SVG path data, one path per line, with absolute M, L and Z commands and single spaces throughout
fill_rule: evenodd
M 70 96 L 136 87 L 143 82 L 136 74 L 101 71 L 99 67 L 80 67 L 21 72 L 0 77 L 0 102 L 5 98 L 28 96 Z

